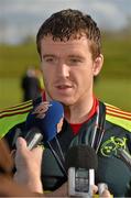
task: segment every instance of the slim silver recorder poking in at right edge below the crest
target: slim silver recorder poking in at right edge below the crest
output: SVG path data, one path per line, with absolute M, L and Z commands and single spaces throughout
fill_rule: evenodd
M 117 156 L 125 163 L 131 170 L 131 155 L 122 147 L 117 148 Z

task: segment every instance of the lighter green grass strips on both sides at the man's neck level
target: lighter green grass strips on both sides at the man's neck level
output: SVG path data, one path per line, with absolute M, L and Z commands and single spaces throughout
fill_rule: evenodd
M 11 107 L 22 101 L 20 78 L 0 79 L 0 108 Z M 96 96 L 110 105 L 131 111 L 131 80 L 98 79 L 95 86 Z

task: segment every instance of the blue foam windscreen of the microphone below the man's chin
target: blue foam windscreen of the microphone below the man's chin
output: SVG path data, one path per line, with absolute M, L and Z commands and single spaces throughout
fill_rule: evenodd
M 33 113 L 33 111 L 34 109 L 32 109 L 26 118 L 26 131 L 31 130 L 34 127 L 39 128 L 39 130 L 43 134 L 43 141 L 51 141 L 56 135 L 57 124 L 64 117 L 64 109 L 62 103 L 54 100 L 50 101 L 48 109 L 43 118 L 37 118 L 36 114 Z

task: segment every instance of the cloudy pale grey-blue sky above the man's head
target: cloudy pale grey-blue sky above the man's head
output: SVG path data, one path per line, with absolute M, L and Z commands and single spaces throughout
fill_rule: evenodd
M 47 16 L 66 8 L 89 13 L 108 30 L 120 30 L 131 19 L 131 0 L 0 0 L 0 42 L 35 35 Z

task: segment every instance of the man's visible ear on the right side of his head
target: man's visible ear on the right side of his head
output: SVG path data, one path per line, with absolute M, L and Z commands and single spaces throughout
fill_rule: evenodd
M 95 61 L 94 61 L 94 67 L 92 67 L 92 73 L 94 76 L 97 76 L 101 68 L 102 68 L 102 64 L 103 64 L 103 55 L 100 54 Z

